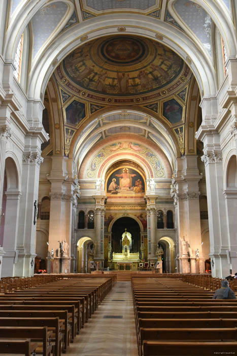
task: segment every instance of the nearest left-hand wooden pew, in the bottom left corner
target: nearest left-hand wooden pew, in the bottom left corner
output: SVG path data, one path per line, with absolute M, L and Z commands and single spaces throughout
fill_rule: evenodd
M 31 342 L 30 339 L 1 339 L 0 338 L 0 353 L 23 353 L 25 356 L 30 356 L 36 350 L 37 342 Z

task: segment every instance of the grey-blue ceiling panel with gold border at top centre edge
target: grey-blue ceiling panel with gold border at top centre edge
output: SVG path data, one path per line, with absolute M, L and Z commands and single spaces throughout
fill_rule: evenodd
M 160 0 L 80 0 L 83 12 L 91 15 L 104 15 L 113 12 L 137 12 L 149 14 L 161 8 Z

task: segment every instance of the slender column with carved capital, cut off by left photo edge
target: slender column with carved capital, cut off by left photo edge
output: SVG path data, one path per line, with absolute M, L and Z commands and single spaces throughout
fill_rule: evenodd
M 8 125 L 0 126 L 0 223 L 2 217 L 6 146 L 9 137 L 11 137 L 10 127 Z

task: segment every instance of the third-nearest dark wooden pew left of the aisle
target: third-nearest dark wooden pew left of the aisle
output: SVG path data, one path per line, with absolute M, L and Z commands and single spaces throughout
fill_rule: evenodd
M 52 337 L 52 344 L 54 346 L 54 355 L 61 355 L 61 342 L 63 334 L 61 332 L 63 320 L 56 318 L 9 318 L 0 317 L 0 327 L 47 327 L 55 335 Z

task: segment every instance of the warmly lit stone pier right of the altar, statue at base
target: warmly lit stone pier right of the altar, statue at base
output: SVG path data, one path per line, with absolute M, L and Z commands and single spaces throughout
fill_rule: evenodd
M 177 158 L 176 165 L 177 170 L 173 175 L 171 196 L 177 205 L 176 224 L 180 260 L 178 270 L 182 273 L 197 273 L 196 249 L 202 257 L 198 186 L 202 176 L 197 167 L 197 156 Z M 205 272 L 204 263 L 200 263 L 200 272 Z

